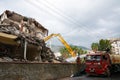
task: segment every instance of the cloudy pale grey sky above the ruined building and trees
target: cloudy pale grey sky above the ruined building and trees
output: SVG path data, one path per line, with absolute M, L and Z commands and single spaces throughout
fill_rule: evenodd
M 5 10 L 36 19 L 70 45 L 90 48 L 120 37 L 120 0 L 0 0 L 0 14 Z M 61 45 L 56 38 L 50 42 Z

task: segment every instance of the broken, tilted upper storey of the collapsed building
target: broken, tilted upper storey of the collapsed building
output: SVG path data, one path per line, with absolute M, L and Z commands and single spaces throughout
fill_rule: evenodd
M 48 30 L 36 20 L 24 17 L 8 10 L 1 14 L 0 23 L 2 25 L 11 25 L 12 27 L 15 26 L 19 31 L 35 35 L 39 38 L 48 35 Z

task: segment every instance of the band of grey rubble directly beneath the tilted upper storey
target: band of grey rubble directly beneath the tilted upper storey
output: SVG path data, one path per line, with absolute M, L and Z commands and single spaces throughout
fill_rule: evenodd
M 42 45 L 43 39 L 36 37 L 35 35 L 31 35 L 29 33 L 20 32 L 15 26 L 11 25 L 0 25 L 0 32 L 12 34 L 18 36 L 18 39 L 26 39 L 28 43 L 34 45 Z M 42 44 L 41 44 L 42 43 Z

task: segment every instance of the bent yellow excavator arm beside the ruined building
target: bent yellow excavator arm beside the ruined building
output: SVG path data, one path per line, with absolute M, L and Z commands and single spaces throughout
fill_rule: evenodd
M 49 36 L 44 38 L 44 41 L 46 42 L 52 37 L 57 37 L 73 57 L 76 55 L 70 45 L 64 40 L 64 38 L 60 34 L 50 34 Z

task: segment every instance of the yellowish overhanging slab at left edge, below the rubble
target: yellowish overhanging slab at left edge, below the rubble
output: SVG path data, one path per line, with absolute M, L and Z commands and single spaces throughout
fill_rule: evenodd
M 17 36 L 15 35 L 0 32 L 0 43 L 17 45 L 18 43 L 15 41 L 16 38 Z

